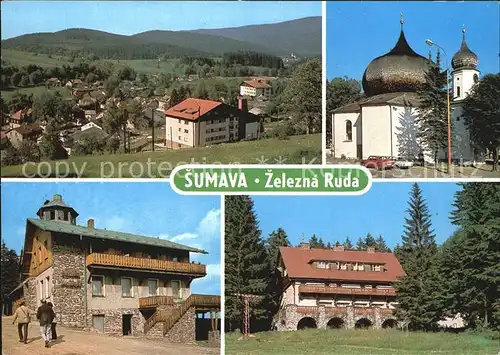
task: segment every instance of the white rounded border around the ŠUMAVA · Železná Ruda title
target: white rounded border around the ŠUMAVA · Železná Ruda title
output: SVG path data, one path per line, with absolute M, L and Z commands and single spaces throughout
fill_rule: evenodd
M 186 170 L 186 169 L 204 169 L 204 170 L 210 170 L 210 169 L 223 169 L 228 172 L 233 171 L 236 172 L 241 169 L 263 169 L 263 170 L 274 170 L 274 169 L 280 169 L 280 170 L 288 170 L 288 169 L 323 169 L 323 170 L 335 170 L 335 169 L 357 169 L 363 171 L 367 176 L 368 176 L 368 184 L 365 186 L 363 190 L 360 191 L 300 191 L 300 192 L 294 192 L 294 191 L 283 191 L 283 192 L 271 192 L 271 191 L 232 191 L 232 192 L 222 192 L 222 191 L 182 191 L 177 186 L 174 184 L 174 179 L 172 178 L 175 176 L 176 173 L 179 172 L 179 170 Z M 187 165 L 179 165 L 176 166 L 171 174 L 170 180 L 170 186 L 172 187 L 172 190 L 174 190 L 176 193 L 179 195 L 287 195 L 287 196 L 359 196 L 363 195 L 366 192 L 370 190 L 372 187 L 372 174 L 370 173 L 370 170 L 365 168 L 364 166 L 361 165 L 320 165 L 320 164 L 290 164 L 290 165 L 265 165 L 265 164 L 241 164 L 241 165 L 225 165 L 225 164 L 187 164 Z

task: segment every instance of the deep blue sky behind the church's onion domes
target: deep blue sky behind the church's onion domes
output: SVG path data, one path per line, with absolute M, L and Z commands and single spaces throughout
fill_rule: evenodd
M 435 58 L 436 47 L 443 47 L 451 62 L 462 43 L 462 26 L 467 44 L 476 53 L 481 75 L 499 72 L 500 3 L 488 2 L 335 2 L 327 3 L 327 78 L 347 76 L 361 80 L 368 64 L 390 51 L 400 34 L 400 13 L 410 46 Z M 443 58 L 444 60 L 444 58 Z

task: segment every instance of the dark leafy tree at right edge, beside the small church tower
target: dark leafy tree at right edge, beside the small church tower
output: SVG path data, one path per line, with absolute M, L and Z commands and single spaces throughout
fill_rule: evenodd
M 500 149 L 500 74 L 485 75 L 464 100 L 462 115 L 472 141 L 493 157 L 498 169 Z

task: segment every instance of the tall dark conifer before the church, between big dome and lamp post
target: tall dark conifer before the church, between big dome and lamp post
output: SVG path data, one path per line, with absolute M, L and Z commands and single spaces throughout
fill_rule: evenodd
M 448 146 L 446 75 L 446 72 L 441 72 L 438 52 L 436 63 L 429 61 L 426 81 L 417 92 L 420 101 L 417 138 L 432 152 L 436 165 L 439 150 Z

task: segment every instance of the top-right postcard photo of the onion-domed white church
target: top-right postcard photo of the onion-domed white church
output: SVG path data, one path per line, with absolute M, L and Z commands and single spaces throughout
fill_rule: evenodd
M 327 163 L 500 178 L 499 6 L 328 2 Z

